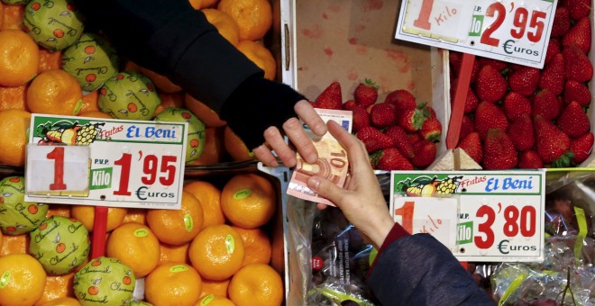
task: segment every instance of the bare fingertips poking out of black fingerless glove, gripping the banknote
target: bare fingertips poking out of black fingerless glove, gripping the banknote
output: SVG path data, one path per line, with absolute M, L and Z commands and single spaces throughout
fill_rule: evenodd
M 294 110 L 298 114 L 298 117 L 304 121 L 310 130 L 317 136 L 323 136 L 326 133 L 325 121 L 323 121 L 318 113 L 316 113 L 311 103 L 306 100 L 301 100 L 296 103 Z M 316 148 L 298 118 L 293 117 L 285 121 L 283 123 L 283 131 L 288 136 L 289 142 L 298 149 L 298 153 L 301 157 L 308 163 L 316 162 L 316 159 L 318 159 Z M 264 165 L 279 166 L 277 157 L 271 152 L 271 150 L 275 150 L 275 153 L 277 153 L 279 159 L 283 162 L 283 165 L 288 167 L 296 166 L 296 153 L 289 148 L 279 129 L 271 126 L 267 130 L 264 130 L 264 139 L 266 140 L 265 144 L 252 149 L 254 156 Z

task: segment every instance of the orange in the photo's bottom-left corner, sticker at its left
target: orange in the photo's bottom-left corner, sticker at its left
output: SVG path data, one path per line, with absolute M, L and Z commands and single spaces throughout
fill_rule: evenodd
M 0 257 L 0 304 L 32 305 L 43 295 L 46 274 L 40 262 L 29 254 Z

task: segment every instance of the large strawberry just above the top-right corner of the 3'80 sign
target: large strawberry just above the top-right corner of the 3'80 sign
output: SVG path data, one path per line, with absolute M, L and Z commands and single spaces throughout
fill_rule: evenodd
M 554 123 L 537 115 L 534 118 L 537 154 L 545 164 L 563 157 L 570 148 L 570 139 Z

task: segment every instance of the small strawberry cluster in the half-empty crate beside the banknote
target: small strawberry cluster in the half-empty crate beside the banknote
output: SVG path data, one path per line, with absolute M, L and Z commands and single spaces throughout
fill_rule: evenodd
M 371 165 L 378 170 L 413 170 L 430 166 L 436 157 L 436 142 L 442 124 L 434 109 L 417 103 L 405 89 L 390 92 L 377 103 L 379 86 L 366 79 L 353 91 L 353 99 L 343 103 L 341 85 L 334 82 L 318 95 L 316 108 L 353 112 L 352 133 L 362 140 Z

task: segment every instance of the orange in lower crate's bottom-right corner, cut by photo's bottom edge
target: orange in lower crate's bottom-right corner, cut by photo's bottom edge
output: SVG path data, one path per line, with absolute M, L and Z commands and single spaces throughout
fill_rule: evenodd
M 269 265 L 244 266 L 232 277 L 227 289 L 236 305 L 280 305 L 283 302 L 283 281 Z

